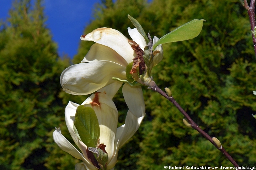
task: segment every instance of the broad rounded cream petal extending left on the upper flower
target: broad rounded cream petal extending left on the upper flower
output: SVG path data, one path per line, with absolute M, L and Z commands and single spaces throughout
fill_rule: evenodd
M 87 95 L 113 83 L 112 77 L 126 79 L 126 67 L 111 61 L 93 61 L 66 68 L 60 76 L 63 90 L 70 94 Z

